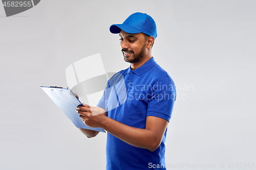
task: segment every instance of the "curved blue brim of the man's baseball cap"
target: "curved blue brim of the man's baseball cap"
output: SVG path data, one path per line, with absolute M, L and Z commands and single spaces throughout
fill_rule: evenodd
M 137 30 L 136 28 L 126 25 L 126 24 L 114 24 L 110 26 L 110 32 L 113 34 L 118 34 L 120 31 L 123 30 L 126 33 L 130 34 L 136 34 L 136 33 L 141 33 L 140 30 Z

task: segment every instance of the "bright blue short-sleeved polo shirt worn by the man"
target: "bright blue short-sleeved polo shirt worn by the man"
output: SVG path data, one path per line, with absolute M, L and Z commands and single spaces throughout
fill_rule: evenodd
M 176 99 L 172 78 L 152 57 L 139 68 L 119 71 L 107 83 L 98 107 L 118 122 L 145 129 L 146 117 L 156 116 L 168 122 Z M 165 138 L 151 152 L 137 148 L 108 133 L 106 169 L 166 169 Z

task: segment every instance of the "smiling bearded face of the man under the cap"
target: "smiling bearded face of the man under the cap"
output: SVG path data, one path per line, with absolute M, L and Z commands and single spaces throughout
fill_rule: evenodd
M 121 30 L 119 36 L 124 61 L 129 63 L 140 61 L 144 57 L 146 48 L 145 35 L 143 33 L 129 34 Z

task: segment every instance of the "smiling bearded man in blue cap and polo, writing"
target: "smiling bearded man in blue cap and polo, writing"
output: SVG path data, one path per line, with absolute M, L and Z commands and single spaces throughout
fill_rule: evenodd
M 124 60 L 131 66 L 119 71 L 125 82 L 125 102 L 109 109 L 108 81 L 97 107 L 83 104 L 77 111 L 83 123 L 108 132 L 106 169 L 166 169 L 165 137 L 176 99 L 172 78 L 151 55 L 157 37 L 156 23 L 147 14 L 134 13 L 110 31 L 120 36 Z M 120 90 L 121 88 L 119 88 Z M 116 90 L 112 88 L 112 91 Z M 121 98 L 121 97 L 120 97 Z M 122 99 L 118 99 L 122 100 Z M 99 132 L 80 129 L 87 137 Z

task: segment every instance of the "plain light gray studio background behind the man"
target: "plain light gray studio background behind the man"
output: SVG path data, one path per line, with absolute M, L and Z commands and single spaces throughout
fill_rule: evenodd
M 127 68 L 109 27 L 134 12 L 155 19 L 153 56 L 180 94 L 166 163 L 256 163 L 255 9 L 256 1 L 44 0 L 6 17 L 1 5 L 0 168 L 105 168 L 106 134 L 88 139 L 40 86 L 65 87 L 66 68 L 97 53 L 106 71 Z

